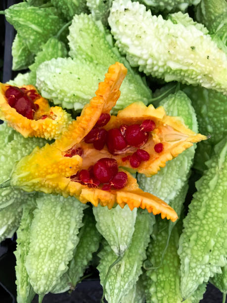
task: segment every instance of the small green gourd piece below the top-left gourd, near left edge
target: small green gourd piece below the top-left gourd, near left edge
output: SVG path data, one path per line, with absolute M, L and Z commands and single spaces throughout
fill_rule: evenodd
M 13 40 L 12 57 L 12 70 L 26 69 L 34 61 L 34 54 L 18 34 Z

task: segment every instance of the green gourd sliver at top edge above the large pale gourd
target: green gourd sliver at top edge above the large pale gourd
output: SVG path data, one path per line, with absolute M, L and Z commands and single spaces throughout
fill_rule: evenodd
M 139 0 L 139 2 L 151 9 L 155 7 L 157 10 L 170 11 L 174 8 L 185 10 L 189 5 L 198 4 L 200 0 Z

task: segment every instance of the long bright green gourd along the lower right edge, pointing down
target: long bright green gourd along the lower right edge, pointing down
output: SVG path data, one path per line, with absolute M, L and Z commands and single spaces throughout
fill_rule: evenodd
M 203 282 L 221 273 L 227 255 L 227 140 L 215 147 L 208 170 L 196 183 L 197 192 L 183 220 L 179 242 L 181 293 L 188 298 Z

